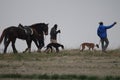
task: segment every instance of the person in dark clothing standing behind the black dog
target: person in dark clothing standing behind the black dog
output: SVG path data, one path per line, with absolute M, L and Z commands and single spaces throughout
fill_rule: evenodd
M 50 41 L 51 43 L 57 43 L 57 34 L 60 33 L 60 30 L 57 31 L 57 24 L 55 24 L 50 31 Z

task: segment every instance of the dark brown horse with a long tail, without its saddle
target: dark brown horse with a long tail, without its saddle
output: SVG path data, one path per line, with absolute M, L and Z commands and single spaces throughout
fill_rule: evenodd
M 16 38 L 26 40 L 28 48 L 25 51 L 27 50 L 29 50 L 29 52 L 31 51 L 30 49 L 31 49 L 32 40 L 35 42 L 38 49 L 41 49 L 43 47 L 43 45 L 41 46 L 41 44 L 44 44 L 44 33 L 45 35 L 48 35 L 48 24 L 37 23 L 28 27 L 30 27 L 33 31 L 33 34 L 30 36 L 26 34 L 25 30 L 19 27 L 11 26 L 4 29 L 0 37 L 0 43 L 4 38 L 4 46 L 5 46 L 4 53 L 6 53 L 7 47 L 10 42 L 12 42 L 13 52 L 17 53 L 16 47 L 15 47 Z M 37 41 L 39 41 L 39 44 L 37 44 Z

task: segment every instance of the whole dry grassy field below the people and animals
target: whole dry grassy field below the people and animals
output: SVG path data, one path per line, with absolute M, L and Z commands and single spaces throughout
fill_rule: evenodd
M 120 80 L 120 49 L 0 54 L 0 79 Z

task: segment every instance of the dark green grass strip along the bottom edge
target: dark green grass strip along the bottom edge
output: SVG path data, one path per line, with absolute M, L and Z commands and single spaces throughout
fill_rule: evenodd
M 0 79 L 49 79 L 49 80 L 120 80 L 119 76 L 86 76 L 86 75 L 48 75 L 48 74 L 33 74 L 33 75 L 22 75 L 22 74 L 1 74 Z

